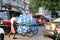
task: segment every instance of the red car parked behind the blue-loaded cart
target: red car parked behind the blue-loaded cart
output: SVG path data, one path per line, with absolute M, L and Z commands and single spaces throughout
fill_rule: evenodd
M 32 15 L 36 19 L 37 25 L 43 25 L 45 22 L 49 22 L 49 19 L 43 15 Z

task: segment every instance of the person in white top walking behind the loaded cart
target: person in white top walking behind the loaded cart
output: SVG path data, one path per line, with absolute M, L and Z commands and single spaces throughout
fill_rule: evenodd
M 17 30 L 17 26 L 16 26 L 16 23 L 15 23 L 15 20 L 16 20 L 16 15 L 15 14 L 12 14 L 12 18 L 11 18 L 11 31 L 9 33 L 9 37 L 10 37 L 11 33 L 13 33 L 13 39 L 17 39 L 15 37 L 16 30 Z

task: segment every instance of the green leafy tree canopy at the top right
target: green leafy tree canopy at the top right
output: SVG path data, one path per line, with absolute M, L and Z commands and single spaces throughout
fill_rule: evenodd
M 60 10 L 60 0 L 30 0 L 30 11 L 38 10 L 39 7 L 45 7 L 51 12 Z

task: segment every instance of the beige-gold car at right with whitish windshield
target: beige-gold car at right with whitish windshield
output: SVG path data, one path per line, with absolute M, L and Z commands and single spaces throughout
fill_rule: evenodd
M 45 23 L 44 36 L 54 36 L 56 31 L 60 30 L 60 18 L 57 18 L 51 22 Z M 59 32 L 59 31 L 58 31 Z

